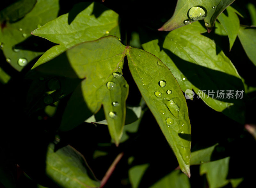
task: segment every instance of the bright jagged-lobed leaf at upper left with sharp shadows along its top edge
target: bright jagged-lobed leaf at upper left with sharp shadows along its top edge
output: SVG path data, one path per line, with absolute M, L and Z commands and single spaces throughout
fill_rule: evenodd
M 46 51 L 33 68 L 53 59 L 76 44 L 96 40 L 106 35 L 120 37 L 116 12 L 101 4 L 88 2 L 76 4 L 73 10 L 81 7 L 85 9 L 77 14 L 74 20 L 71 20 L 71 10 L 32 32 L 32 35 L 59 44 Z

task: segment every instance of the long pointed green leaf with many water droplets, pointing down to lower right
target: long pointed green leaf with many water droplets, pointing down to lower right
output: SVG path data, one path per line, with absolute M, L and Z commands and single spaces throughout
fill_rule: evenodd
M 127 48 L 126 54 L 142 97 L 171 145 L 181 170 L 190 176 L 191 127 L 178 82 L 156 56 L 132 47 Z

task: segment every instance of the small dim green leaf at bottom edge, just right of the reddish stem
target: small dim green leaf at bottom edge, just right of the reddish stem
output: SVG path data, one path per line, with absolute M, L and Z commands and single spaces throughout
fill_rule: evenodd
M 133 166 L 128 170 L 129 180 L 132 184 L 132 188 L 139 187 L 140 180 L 148 167 L 149 167 L 149 164 L 141 164 L 141 165 Z

